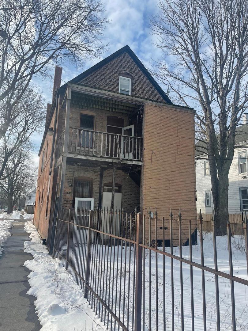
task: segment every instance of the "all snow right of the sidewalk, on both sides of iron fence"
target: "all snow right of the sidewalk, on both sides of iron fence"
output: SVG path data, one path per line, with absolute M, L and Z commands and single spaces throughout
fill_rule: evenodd
M 25 265 L 32 270 L 30 274 L 29 283 L 31 289 L 28 294 L 33 294 L 37 297 L 35 302 L 38 316 L 46 331 L 63 331 L 63 330 L 85 330 L 92 331 L 102 329 L 102 323 L 96 319 L 92 309 L 87 305 L 87 302 L 83 298 L 83 293 L 80 287 L 75 283 L 72 277 L 66 272 L 65 268 L 59 260 L 52 259 L 44 246 L 41 245 L 41 240 L 38 236 L 34 226 L 27 223 L 26 229 L 31 233 L 31 242 L 25 242 L 25 251 L 31 253 L 34 256 L 34 260 L 26 261 Z M 204 260 L 205 265 L 214 268 L 213 260 L 213 239 L 211 233 L 204 233 Z M 99 245 L 100 247 L 100 245 Z M 100 248 L 101 249 L 101 248 Z M 109 248 L 110 251 L 115 248 Z M 232 258 L 233 258 L 233 272 L 234 276 L 239 278 L 247 279 L 247 267 L 246 267 L 246 256 L 244 251 L 244 242 L 240 236 L 234 236 L 232 238 Z M 129 250 L 131 254 L 129 255 Z M 193 246 L 193 261 L 200 263 L 200 246 Z M 169 248 L 166 248 L 169 252 Z M 182 248 L 183 257 L 189 259 L 189 247 Z M 227 249 L 227 236 L 217 237 L 217 253 L 218 253 L 218 268 L 220 271 L 229 273 L 229 260 L 228 260 L 228 249 Z M 76 261 L 74 266 L 77 268 L 77 261 L 79 261 L 81 249 L 80 246 L 73 247 L 70 251 L 70 259 Z M 133 248 L 127 247 L 124 250 L 119 250 L 117 256 L 115 251 L 115 267 L 113 272 L 113 279 L 118 280 L 120 274 L 122 275 L 122 285 L 117 287 L 117 298 L 119 294 L 123 297 L 123 286 L 125 279 L 126 291 L 128 288 L 128 282 L 131 293 L 133 289 L 133 266 L 134 255 Z M 179 249 L 175 247 L 173 254 L 179 255 Z M 104 254 L 103 254 L 104 255 Z M 100 256 L 100 253 L 99 253 Z M 126 277 L 124 277 L 124 256 L 126 263 L 129 263 L 131 277 L 128 279 L 128 270 L 126 270 Z M 145 253 L 145 330 L 148 330 L 148 301 L 149 301 L 149 256 L 146 250 Z M 120 264 L 122 257 L 122 266 Z M 103 257 L 102 257 L 103 258 Z M 105 261 L 105 258 L 104 258 Z M 99 272 L 100 263 L 99 260 L 94 260 L 92 268 L 94 268 L 96 283 L 99 283 L 99 275 L 101 278 L 101 272 Z M 166 291 L 166 329 L 171 330 L 171 260 L 165 258 L 165 291 Z M 106 258 L 105 268 L 110 268 L 109 258 Z M 117 267 L 118 265 L 118 268 Z M 113 267 L 113 260 L 112 265 Z M 152 326 L 151 329 L 155 330 L 155 253 L 151 252 L 151 308 L 152 308 Z M 174 260 L 174 308 L 175 308 L 175 330 L 181 330 L 181 290 L 180 290 L 180 263 Z M 112 270 L 112 269 L 111 269 Z M 120 271 L 121 270 L 121 271 Z M 183 286 L 184 286 L 184 330 L 191 331 L 191 298 L 190 298 L 190 268 L 188 264 L 183 263 Z M 112 271 L 111 271 L 112 273 Z M 104 273 L 103 273 L 104 275 Z M 94 277 L 92 283 L 95 282 Z M 195 319 L 195 330 L 203 330 L 203 306 L 202 306 L 202 273 L 199 268 L 193 267 L 193 290 L 194 290 L 194 319 Z M 105 277 L 106 278 L 106 277 Z M 105 280 L 104 280 L 105 282 Z M 245 331 L 248 330 L 248 314 L 247 314 L 247 303 L 248 294 L 247 286 L 234 282 L 235 288 L 235 311 L 236 311 L 236 330 Z M 106 286 L 111 293 L 112 290 L 112 274 L 111 278 L 106 281 Z M 163 257 L 158 254 L 158 318 L 159 318 L 159 330 L 163 330 Z M 207 330 L 216 330 L 216 297 L 215 297 L 215 277 L 212 273 L 205 272 L 205 287 L 206 287 L 206 311 L 207 311 Z M 115 290 L 115 288 L 114 288 Z M 119 291 L 120 290 L 120 291 Z M 227 331 L 232 330 L 231 325 L 231 296 L 230 296 L 230 281 L 226 278 L 219 277 L 219 293 L 220 293 L 220 319 L 221 319 L 221 330 Z M 100 293 L 99 293 L 100 294 Z M 101 294 L 100 294 L 101 295 Z M 108 298 L 106 297 L 105 300 Z M 110 299 L 111 300 L 111 299 Z M 127 295 L 125 297 L 127 300 Z M 115 305 L 115 303 L 114 303 Z M 118 305 L 118 304 L 117 304 Z M 132 295 L 130 297 L 130 324 L 132 319 Z M 118 309 L 118 307 L 117 307 Z M 83 310 L 83 311 L 82 311 Z M 125 324 L 127 316 L 127 301 L 125 304 L 124 320 Z M 123 318 L 121 313 L 121 320 Z M 129 324 L 129 325 L 130 325 Z M 43 330 L 42 328 L 42 330 Z M 105 327 L 106 330 L 106 327 Z

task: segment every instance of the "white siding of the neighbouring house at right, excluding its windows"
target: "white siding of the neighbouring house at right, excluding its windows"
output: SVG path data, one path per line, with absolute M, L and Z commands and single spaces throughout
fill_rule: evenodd
M 234 151 L 233 161 L 229 171 L 229 190 L 228 190 L 228 211 L 229 214 L 241 213 L 240 210 L 240 196 L 239 188 L 248 187 L 248 173 L 238 173 L 238 153 L 241 151 L 248 151 L 247 149 L 236 148 Z M 210 176 L 204 176 L 204 160 L 196 160 L 196 194 L 197 213 L 201 209 L 202 213 L 212 213 L 213 211 L 213 199 L 211 192 L 211 207 L 205 207 L 205 191 L 211 190 Z

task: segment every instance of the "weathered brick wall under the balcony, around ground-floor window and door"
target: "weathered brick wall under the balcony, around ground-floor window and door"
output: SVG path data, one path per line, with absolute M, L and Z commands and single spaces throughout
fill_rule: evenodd
M 99 203 L 100 168 L 87 166 L 66 165 L 65 183 L 63 192 L 63 207 L 71 208 L 73 199 L 73 183 L 75 177 L 93 178 L 94 209 Z M 103 185 L 112 182 L 112 169 L 103 172 Z M 131 212 L 140 204 L 140 187 L 122 170 L 116 170 L 115 183 L 122 185 L 122 205 L 126 212 Z

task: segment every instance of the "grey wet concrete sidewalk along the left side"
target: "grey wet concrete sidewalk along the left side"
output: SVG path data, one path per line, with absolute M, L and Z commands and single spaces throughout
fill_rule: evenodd
M 21 217 L 22 218 L 22 217 Z M 27 295 L 30 286 L 30 270 L 23 267 L 31 254 L 24 253 L 23 242 L 30 240 L 24 227 L 24 220 L 18 220 L 11 230 L 11 237 L 3 245 L 0 257 L 0 330 L 37 331 L 41 329 L 35 313 L 35 297 Z

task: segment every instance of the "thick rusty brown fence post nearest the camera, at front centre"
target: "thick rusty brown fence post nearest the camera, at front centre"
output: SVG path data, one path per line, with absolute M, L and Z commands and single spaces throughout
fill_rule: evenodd
M 140 246 L 140 244 L 143 244 L 143 214 L 142 213 L 137 214 L 137 228 L 136 228 L 135 324 L 134 324 L 135 331 L 141 331 L 143 247 Z

